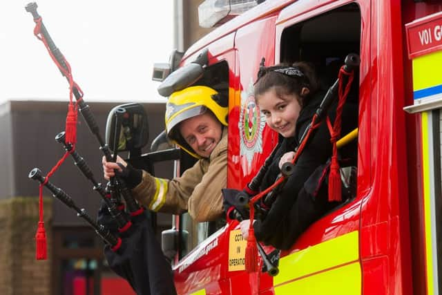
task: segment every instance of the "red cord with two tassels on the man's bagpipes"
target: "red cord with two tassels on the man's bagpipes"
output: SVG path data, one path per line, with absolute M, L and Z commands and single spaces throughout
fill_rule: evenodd
M 77 143 L 77 115 L 78 115 L 77 103 L 83 97 L 83 92 L 81 91 L 81 89 L 73 79 L 68 61 L 66 61 L 66 59 L 62 57 L 63 63 L 66 65 L 66 68 L 64 68 L 64 66 L 61 66 L 57 58 L 52 54 L 52 51 L 48 46 L 48 41 L 41 33 L 41 17 L 39 19 L 35 19 L 35 23 L 36 23 L 34 28 L 35 37 L 37 37 L 40 41 L 43 42 L 44 46 L 48 50 L 50 57 L 52 58 L 52 61 L 55 62 L 57 68 L 59 68 L 61 73 L 68 79 L 69 82 L 69 104 L 68 104 L 68 114 L 66 115 L 65 133 L 66 133 L 66 143 L 72 145 L 72 149 L 70 150 L 70 152 L 66 152 L 64 154 L 63 158 L 61 158 L 59 162 L 57 162 L 57 164 L 51 169 L 48 175 L 46 175 L 44 183 L 40 184 L 39 186 L 39 224 L 37 227 L 37 234 L 35 234 L 35 240 L 37 243 L 36 258 L 37 260 L 45 260 L 47 258 L 47 247 L 46 247 L 46 231 L 44 229 L 44 218 L 43 218 L 43 187 L 44 184 L 48 182 L 50 175 L 52 175 L 58 169 L 61 163 L 64 162 L 67 155 L 75 151 L 75 144 Z M 77 102 L 73 102 L 74 88 L 77 89 L 80 95 L 79 99 L 77 99 Z

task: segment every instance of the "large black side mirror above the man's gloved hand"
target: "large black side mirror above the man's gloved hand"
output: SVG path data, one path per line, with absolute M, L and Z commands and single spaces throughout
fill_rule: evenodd
M 116 146 L 117 152 L 129 151 L 131 155 L 141 155 L 141 149 L 147 142 L 147 115 L 141 104 L 122 104 L 109 112 L 106 122 L 106 144 L 111 150 Z

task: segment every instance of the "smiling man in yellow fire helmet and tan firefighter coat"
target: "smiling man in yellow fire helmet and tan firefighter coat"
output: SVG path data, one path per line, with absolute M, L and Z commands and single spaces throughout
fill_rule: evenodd
M 133 168 L 121 158 L 117 163 L 103 158 L 104 178 L 126 170 L 122 177 L 133 196 L 152 211 L 180 214 L 186 211 L 198 221 L 224 215 L 221 189 L 227 185 L 227 113 L 220 94 L 207 86 L 177 91 L 166 104 L 169 140 L 198 158 L 193 167 L 172 180 L 155 178 Z

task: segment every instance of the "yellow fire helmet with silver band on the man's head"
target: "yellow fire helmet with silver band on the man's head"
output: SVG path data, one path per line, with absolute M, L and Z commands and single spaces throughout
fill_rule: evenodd
M 179 145 L 184 151 L 201 158 L 175 130 L 175 127 L 191 117 L 202 115 L 209 109 L 222 125 L 227 126 L 227 106 L 220 104 L 220 95 L 207 86 L 191 86 L 172 93 L 166 104 L 166 133 L 169 140 Z

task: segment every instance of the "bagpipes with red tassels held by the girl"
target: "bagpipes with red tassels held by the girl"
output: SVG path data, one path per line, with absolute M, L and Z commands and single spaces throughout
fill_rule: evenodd
M 244 218 L 249 218 L 251 220 L 249 227 L 249 237 L 247 238 L 247 248 L 245 256 L 246 269 L 249 272 L 255 272 L 257 269 L 257 250 L 260 251 L 262 259 L 265 265 L 268 263 L 269 258 L 263 255 L 262 247 L 260 243 L 256 241 L 253 231 L 253 222 L 256 216 L 263 219 L 267 215 L 269 209 L 273 202 L 278 198 L 278 194 L 282 187 L 284 187 L 287 178 L 293 173 L 296 161 L 302 154 L 302 151 L 309 144 L 309 140 L 314 136 L 314 133 L 318 126 L 327 120 L 327 126 L 329 127 L 329 132 L 331 134 L 331 142 L 333 146 L 332 158 L 329 164 L 329 201 L 340 201 L 341 200 L 341 178 L 339 173 L 338 155 L 337 155 L 337 140 L 340 137 L 341 129 L 341 115 L 343 110 L 343 105 L 345 104 L 345 99 L 350 91 L 353 81 L 353 72 L 360 64 L 360 59 L 356 54 L 349 54 L 345 58 L 345 64 L 340 68 L 338 79 L 332 86 L 329 87 L 327 93 L 323 97 L 320 106 L 316 109 L 313 118 L 304 133 L 300 137 L 300 144 L 295 149 L 296 153 L 291 162 L 286 162 L 282 164 L 280 168 L 280 173 L 276 178 L 276 181 L 267 189 L 263 191 L 260 190 L 260 184 L 269 169 L 269 166 L 275 161 L 275 155 L 278 151 L 279 145 L 277 145 L 271 154 L 267 157 L 264 164 L 261 166 L 255 177 L 244 187 L 243 191 L 236 191 L 233 189 L 227 189 L 223 191 L 224 202 L 231 205 L 228 211 L 229 218 L 237 219 L 239 221 Z M 348 77 L 345 87 L 343 86 L 343 80 Z M 334 124 L 329 122 L 327 113 L 330 106 L 335 101 L 336 96 L 338 96 L 338 104 L 336 107 L 336 118 Z M 356 134 L 356 133 L 353 133 Z M 260 202 L 258 202 L 260 201 Z M 247 216 L 247 217 L 244 217 Z M 258 248 L 258 249 L 256 249 Z

